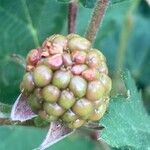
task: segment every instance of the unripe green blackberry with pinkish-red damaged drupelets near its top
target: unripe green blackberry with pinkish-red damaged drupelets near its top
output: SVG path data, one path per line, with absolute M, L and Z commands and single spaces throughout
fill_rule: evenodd
M 104 55 L 77 35 L 52 35 L 27 55 L 21 90 L 32 110 L 70 128 L 99 120 L 106 111 L 111 79 Z

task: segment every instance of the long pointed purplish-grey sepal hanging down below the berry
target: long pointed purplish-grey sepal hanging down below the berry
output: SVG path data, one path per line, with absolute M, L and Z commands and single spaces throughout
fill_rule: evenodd
M 37 149 L 44 150 L 72 133 L 72 129 L 65 127 L 60 122 L 52 122 L 50 124 L 50 128 L 46 138 L 44 139 L 40 147 Z

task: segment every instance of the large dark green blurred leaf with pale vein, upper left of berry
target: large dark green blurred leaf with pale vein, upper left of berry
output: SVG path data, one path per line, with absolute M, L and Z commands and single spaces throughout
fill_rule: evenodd
M 66 6 L 55 0 L 0 0 L 1 102 L 15 101 L 24 73 L 10 56 L 14 53 L 26 56 L 46 37 L 64 32 L 66 11 Z

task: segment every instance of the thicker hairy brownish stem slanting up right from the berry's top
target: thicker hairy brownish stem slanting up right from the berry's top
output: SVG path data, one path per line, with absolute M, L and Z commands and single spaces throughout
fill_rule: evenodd
M 85 35 L 85 37 L 91 42 L 94 41 L 99 25 L 103 21 L 103 17 L 106 12 L 108 3 L 109 3 L 109 0 L 97 0 L 96 6 L 92 14 L 91 21 L 89 23 L 89 26 L 87 28 L 86 35 Z

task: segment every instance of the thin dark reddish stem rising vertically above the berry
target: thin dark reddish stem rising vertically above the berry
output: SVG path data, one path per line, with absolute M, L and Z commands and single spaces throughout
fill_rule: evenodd
M 69 3 L 69 9 L 68 9 L 68 33 L 75 32 L 76 14 L 77 14 L 77 1 L 72 0 Z

